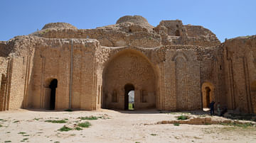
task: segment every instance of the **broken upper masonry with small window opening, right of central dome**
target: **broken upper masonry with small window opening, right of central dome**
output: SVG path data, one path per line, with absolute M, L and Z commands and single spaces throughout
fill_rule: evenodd
M 210 30 L 196 25 L 183 25 L 182 21 L 161 21 L 154 28 L 163 45 L 200 45 L 214 47 L 220 41 Z

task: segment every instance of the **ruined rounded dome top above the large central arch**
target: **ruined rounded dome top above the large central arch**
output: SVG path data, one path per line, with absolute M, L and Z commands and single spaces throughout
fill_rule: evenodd
M 125 22 L 136 23 L 139 25 L 153 27 L 152 25 L 149 24 L 146 18 L 142 16 L 123 16 L 117 20 L 117 24 L 125 23 Z

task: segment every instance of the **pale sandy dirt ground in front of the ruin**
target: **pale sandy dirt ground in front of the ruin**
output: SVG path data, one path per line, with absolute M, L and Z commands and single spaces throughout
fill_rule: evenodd
M 192 114 L 208 117 L 203 111 Z M 80 117 L 92 115 L 100 118 L 80 120 Z M 256 142 L 256 127 L 156 125 L 161 120 L 176 120 L 177 115 L 181 113 L 161 113 L 157 110 L 4 111 L 0 112 L 0 142 Z M 92 126 L 68 132 L 59 130 L 63 125 L 73 127 L 86 121 Z

